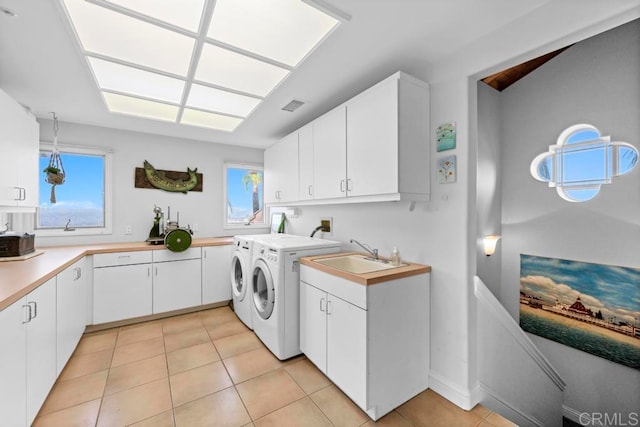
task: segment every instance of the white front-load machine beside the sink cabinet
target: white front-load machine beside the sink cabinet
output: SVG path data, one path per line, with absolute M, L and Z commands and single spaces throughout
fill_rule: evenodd
M 299 259 L 339 252 L 341 243 L 291 237 L 256 239 L 253 248 L 253 330 L 278 359 L 288 359 L 301 353 Z

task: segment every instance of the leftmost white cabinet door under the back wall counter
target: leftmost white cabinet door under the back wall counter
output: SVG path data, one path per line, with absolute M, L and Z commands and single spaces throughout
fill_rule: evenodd
M 93 269 L 93 323 L 152 313 L 151 264 Z

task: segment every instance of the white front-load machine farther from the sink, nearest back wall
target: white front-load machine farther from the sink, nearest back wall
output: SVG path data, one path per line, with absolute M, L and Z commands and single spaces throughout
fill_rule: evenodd
M 233 236 L 231 254 L 231 290 L 233 310 L 249 329 L 253 329 L 253 300 L 251 297 L 251 266 L 253 241 L 298 237 L 291 234 L 245 234 Z

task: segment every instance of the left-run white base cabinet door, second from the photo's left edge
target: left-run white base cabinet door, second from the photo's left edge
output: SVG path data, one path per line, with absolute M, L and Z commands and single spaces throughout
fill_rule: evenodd
M 56 279 L 26 296 L 32 307 L 26 324 L 27 425 L 31 425 L 56 381 Z

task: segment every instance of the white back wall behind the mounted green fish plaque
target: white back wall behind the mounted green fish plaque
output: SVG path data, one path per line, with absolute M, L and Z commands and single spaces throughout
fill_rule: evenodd
M 50 120 L 39 120 L 40 139 L 53 140 Z M 38 237 L 38 246 L 68 245 L 97 242 L 141 241 L 149 236 L 153 225 L 153 206 L 167 213 L 171 206 L 171 219 L 180 212 L 180 225 L 198 224 L 194 237 L 212 237 L 239 234 L 222 228 L 223 164 L 226 161 L 250 162 L 262 165 L 263 150 L 236 148 L 212 142 L 199 142 L 163 137 L 96 126 L 60 122 L 60 144 L 95 146 L 113 150 L 113 234 L 107 236 Z M 157 189 L 135 188 L 136 167 L 148 160 L 157 169 L 186 171 L 198 168 L 203 174 L 203 191 L 187 194 L 170 193 Z M 73 171 L 67 170 L 67 180 Z M 40 185 L 46 185 L 41 183 Z M 166 218 L 166 217 L 165 217 Z M 131 224 L 132 235 L 125 235 Z M 263 232 L 254 230 L 253 232 Z

